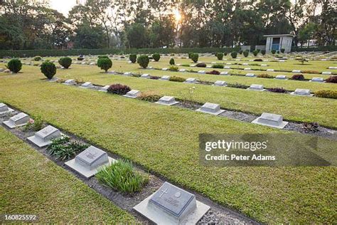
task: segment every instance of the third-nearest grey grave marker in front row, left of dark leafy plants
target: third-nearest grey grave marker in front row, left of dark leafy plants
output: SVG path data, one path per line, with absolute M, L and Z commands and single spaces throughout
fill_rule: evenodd
M 51 144 L 51 140 L 61 137 L 61 132 L 57 128 L 48 125 L 42 130 L 36 132 L 35 135 L 28 137 L 27 139 L 33 142 L 38 147 L 45 147 Z

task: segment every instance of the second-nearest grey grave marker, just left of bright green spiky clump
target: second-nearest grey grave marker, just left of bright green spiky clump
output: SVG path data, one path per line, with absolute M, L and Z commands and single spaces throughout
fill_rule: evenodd
M 117 160 L 108 157 L 107 152 L 91 145 L 76 155 L 75 159 L 71 159 L 65 162 L 65 164 L 83 177 L 89 179 L 98 172 L 100 167 L 107 166 L 114 162 L 117 162 Z

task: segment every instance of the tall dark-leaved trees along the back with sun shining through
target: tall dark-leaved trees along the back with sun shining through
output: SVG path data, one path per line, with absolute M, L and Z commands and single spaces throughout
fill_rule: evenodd
M 161 48 L 259 45 L 294 33 L 294 45 L 335 45 L 327 0 L 87 0 L 68 17 L 48 1 L 0 1 L 0 49 Z M 70 46 L 71 47 L 71 46 Z

